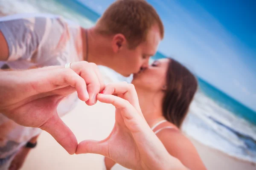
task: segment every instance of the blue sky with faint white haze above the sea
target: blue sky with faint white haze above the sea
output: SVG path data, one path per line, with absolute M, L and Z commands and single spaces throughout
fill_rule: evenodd
M 79 0 L 102 14 L 114 0 Z M 256 1 L 148 0 L 160 14 L 159 51 L 256 111 Z

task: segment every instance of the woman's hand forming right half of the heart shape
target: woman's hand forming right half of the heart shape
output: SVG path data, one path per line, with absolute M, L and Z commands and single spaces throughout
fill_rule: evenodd
M 130 169 L 185 169 L 179 160 L 169 155 L 148 126 L 134 85 L 125 82 L 109 84 L 97 99 L 116 107 L 115 125 L 106 139 L 79 143 L 77 154 L 101 154 Z

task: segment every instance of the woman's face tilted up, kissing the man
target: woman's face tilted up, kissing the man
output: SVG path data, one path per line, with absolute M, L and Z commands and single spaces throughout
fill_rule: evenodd
M 138 74 L 134 74 L 132 84 L 135 88 L 143 88 L 147 91 L 160 91 L 166 85 L 166 72 L 171 59 L 155 60 L 148 68 L 143 69 Z

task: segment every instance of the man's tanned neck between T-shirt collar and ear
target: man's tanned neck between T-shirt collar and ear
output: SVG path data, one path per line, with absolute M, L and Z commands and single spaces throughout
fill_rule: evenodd
M 95 28 L 81 28 L 81 32 L 84 60 L 96 65 L 111 67 L 111 56 L 113 56 L 111 43 L 109 42 L 111 39 L 96 33 Z

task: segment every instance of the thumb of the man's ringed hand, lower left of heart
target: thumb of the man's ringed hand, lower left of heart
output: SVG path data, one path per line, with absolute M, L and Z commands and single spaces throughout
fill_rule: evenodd
M 47 131 L 69 154 L 76 152 L 77 140 L 74 133 L 61 120 L 58 114 L 54 114 L 44 125 L 40 127 Z

